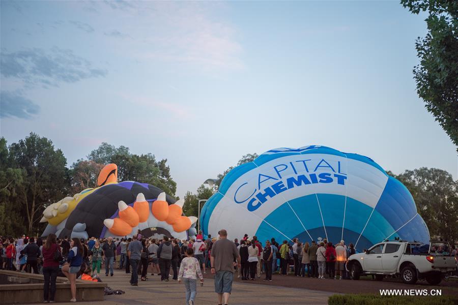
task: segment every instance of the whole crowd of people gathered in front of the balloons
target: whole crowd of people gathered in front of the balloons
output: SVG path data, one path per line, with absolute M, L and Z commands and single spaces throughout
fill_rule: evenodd
M 114 269 L 131 273 L 130 285 L 147 281 L 148 275 L 160 276 L 168 282 L 171 278 L 185 286 L 186 303 L 192 305 L 196 296 L 197 279 L 201 285 L 207 269 L 215 275 L 215 292 L 218 304 L 227 304 L 232 291 L 234 275 L 242 281 L 255 281 L 264 275 L 271 282 L 272 274 L 293 275 L 317 279 L 350 279 L 346 270 L 347 258 L 355 254 L 352 243 L 340 240 L 335 245 L 326 239 L 316 242 L 283 240 L 281 245 L 271 238 L 263 242 L 256 236 L 245 234 L 227 239 L 226 230 L 218 237 L 204 238 L 201 231 L 195 239 L 179 240 L 163 236 L 145 238 L 140 231 L 129 238 L 95 238 L 88 240 L 57 238 L 49 234 L 46 240 L 39 237 L 2 238 L 0 243 L 0 268 L 20 272 L 41 273 L 44 276 L 44 302 L 54 302 L 56 277 L 65 276 L 76 301 L 76 279 L 101 281 L 114 276 Z M 451 253 L 457 255 L 455 246 Z M 224 302 L 223 302 L 224 301 Z

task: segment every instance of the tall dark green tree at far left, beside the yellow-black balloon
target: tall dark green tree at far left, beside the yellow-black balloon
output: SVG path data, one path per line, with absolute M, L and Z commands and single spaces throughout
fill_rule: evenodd
M 64 198 L 69 191 L 67 160 L 50 140 L 35 133 L 11 144 L 8 149 L 5 146 L 2 147 L 2 155 L 8 155 L 6 160 L 10 167 L 6 171 L 15 169 L 14 178 L 7 175 L 7 180 L 10 180 L 6 189 L 8 192 L 2 197 L 7 221 L 11 219 L 25 224 L 25 231 L 29 234 L 37 233 L 44 207 Z M 14 227 L 18 225 L 10 224 L 7 230 Z

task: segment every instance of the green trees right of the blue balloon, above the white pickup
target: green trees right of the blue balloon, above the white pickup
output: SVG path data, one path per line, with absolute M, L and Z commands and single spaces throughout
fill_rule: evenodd
M 426 167 L 395 177 L 409 189 L 431 237 L 458 241 L 458 180 L 447 171 Z

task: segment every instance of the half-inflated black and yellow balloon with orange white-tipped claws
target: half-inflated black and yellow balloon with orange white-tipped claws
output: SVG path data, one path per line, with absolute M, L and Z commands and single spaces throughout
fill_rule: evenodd
M 48 222 L 42 237 L 124 237 L 141 231 L 145 237 L 164 235 L 187 239 L 196 234 L 196 217 L 183 215 L 183 200 L 140 182 L 118 182 L 116 164 L 106 165 L 98 187 L 86 189 L 49 205 L 41 222 Z

